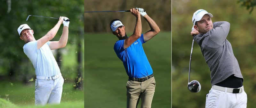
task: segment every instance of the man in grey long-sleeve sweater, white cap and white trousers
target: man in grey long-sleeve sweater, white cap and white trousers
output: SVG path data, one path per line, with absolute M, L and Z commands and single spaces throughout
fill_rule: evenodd
M 206 95 L 205 108 L 246 108 L 247 95 L 244 78 L 233 54 L 228 36 L 230 24 L 226 21 L 212 23 L 212 14 L 197 10 L 192 23 L 191 35 L 201 48 L 211 71 L 212 88 Z

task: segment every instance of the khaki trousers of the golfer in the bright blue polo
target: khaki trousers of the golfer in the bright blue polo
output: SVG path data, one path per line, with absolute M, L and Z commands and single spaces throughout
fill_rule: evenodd
M 143 82 L 128 80 L 126 83 L 127 108 L 137 108 L 140 98 L 141 108 L 151 108 L 155 87 L 154 76 Z

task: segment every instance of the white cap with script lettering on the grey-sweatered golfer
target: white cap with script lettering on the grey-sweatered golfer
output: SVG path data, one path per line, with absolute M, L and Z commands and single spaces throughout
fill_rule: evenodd
M 193 25 L 196 24 L 196 21 L 200 21 L 203 16 L 207 14 L 209 15 L 211 18 L 213 17 L 213 15 L 211 13 L 208 13 L 207 11 L 203 10 L 203 9 L 199 9 L 197 10 L 194 14 L 193 14 L 193 17 L 192 17 L 192 23 Z

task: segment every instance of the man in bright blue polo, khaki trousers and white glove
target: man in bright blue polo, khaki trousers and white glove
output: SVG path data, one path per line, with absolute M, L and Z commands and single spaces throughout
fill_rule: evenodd
M 119 19 L 110 22 L 112 33 L 119 39 L 114 45 L 118 58 L 123 61 L 129 76 L 127 88 L 127 108 L 137 107 L 141 98 L 141 107 L 150 108 L 153 100 L 156 81 L 142 44 L 160 32 L 159 27 L 142 8 L 132 8 L 132 15 L 136 17 L 136 25 L 131 36 L 127 37 L 125 26 Z M 148 22 L 151 30 L 142 34 L 140 15 Z

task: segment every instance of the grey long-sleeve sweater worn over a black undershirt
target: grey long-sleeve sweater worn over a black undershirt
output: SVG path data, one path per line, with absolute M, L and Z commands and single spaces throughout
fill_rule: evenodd
M 212 85 L 220 83 L 233 74 L 243 78 L 232 46 L 226 39 L 229 27 L 230 24 L 226 21 L 214 22 L 212 30 L 194 37 L 210 68 Z

